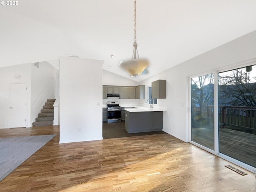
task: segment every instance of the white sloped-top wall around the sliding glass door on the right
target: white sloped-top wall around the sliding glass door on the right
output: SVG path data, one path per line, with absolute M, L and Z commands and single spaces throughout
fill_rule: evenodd
M 163 114 L 163 130 L 188 142 L 189 76 L 212 72 L 254 58 L 256 58 L 256 31 L 174 66 L 140 84 L 147 86 L 154 80 L 166 79 L 166 99 L 159 100 L 167 106 L 167 111 Z

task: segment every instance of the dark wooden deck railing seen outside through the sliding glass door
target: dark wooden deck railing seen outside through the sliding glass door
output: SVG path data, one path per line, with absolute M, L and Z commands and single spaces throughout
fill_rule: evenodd
M 256 107 L 219 106 L 219 124 L 256 130 Z M 208 121 L 214 123 L 214 106 L 207 106 Z

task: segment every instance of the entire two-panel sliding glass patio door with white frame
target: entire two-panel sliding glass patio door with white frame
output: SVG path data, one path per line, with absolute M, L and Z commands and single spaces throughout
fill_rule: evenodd
M 190 78 L 190 141 L 256 171 L 256 66 Z

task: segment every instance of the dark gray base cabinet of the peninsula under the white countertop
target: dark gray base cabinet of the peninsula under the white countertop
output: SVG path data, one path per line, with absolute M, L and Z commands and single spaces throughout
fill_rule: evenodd
M 160 131 L 163 129 L 163 112 L 125 111 L 125 130 L 128 133 Z

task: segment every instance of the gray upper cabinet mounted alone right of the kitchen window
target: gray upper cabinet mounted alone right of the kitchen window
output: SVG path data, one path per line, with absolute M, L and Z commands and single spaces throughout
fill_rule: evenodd
M 156 80 L 151 83 L 152 99 L 166 99 L 166 80 Z

